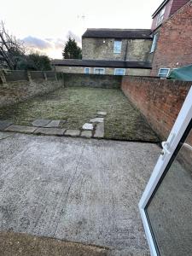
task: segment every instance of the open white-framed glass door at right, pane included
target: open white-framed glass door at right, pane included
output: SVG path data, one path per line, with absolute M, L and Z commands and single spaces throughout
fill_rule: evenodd
M 192 89 L 139 202 L 152 255 L 192 255 Z

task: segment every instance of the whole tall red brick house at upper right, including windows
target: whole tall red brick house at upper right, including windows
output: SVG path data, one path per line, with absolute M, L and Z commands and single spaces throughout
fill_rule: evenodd
M 151 75 L 166 77 L 171 69 L 192 63 L 192 1 L 166 0 L 152 17 Z

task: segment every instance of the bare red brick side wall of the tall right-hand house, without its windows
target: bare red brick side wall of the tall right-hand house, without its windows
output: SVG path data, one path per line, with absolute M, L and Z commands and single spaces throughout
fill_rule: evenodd
M 192 1 L 161 26 L 151 75 L 160 67 L 182 67 L 192 63 Z

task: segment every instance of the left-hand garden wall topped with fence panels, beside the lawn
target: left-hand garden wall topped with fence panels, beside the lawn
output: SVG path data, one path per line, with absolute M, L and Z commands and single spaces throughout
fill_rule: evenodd
M 61 73 L 55 72 L 0 72 L 0 108 L 44 95 L 63 86 Z

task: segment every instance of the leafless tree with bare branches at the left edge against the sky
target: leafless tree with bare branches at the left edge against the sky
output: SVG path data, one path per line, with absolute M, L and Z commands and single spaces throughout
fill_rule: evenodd
M 20 57 L 25 57 L 25 48 L 15 36 L 6 31 L 3 21 L 0 22 L 0 67 L 15 69 Z

